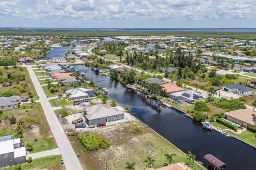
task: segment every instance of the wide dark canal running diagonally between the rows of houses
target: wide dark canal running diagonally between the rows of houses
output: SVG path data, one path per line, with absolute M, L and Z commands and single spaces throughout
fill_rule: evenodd
M 130 106 L 132 115 L 183 152 L 191 151 L 196 155 L 196 160 L 205 163 L 203 157 L 212 154 L 226 163 L 228 169 L 256 169 L 256 150 L 245 143 L 203 130 L 201 125 L 195 124 L 180 111 L 159 106 L 154 99 L 147 98 L 141 92 L 128 90 L 109 76 L 94 73 L 90 67 L 76 65 L 75 69 L 84 72 L 87 78 L 92 78 L 97 86 L 106 87 L 110 98 L 123 107 Z

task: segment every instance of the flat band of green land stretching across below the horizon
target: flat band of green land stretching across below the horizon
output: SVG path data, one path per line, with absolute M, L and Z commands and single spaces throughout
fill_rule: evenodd
M 255 39 L 254 32 L 204 32 L 204 31 L 102 31 L 102 30 L 1 30 L 3 36 L 186 36 L 186 37 L 228 37 L 241 39 Z

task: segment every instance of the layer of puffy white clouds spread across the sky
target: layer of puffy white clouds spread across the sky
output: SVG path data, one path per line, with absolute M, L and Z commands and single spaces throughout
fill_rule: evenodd
M 1 0 L 0 22 L 143 23 L 254 19 L 255 0 Z M 69 22 L 70 21 L 70 22 Z M 153 25 L 154 26 L 154 25 Z M 199 25 L 200 26 L 200 25 Z M 104 25 L 102 25 L 104 27 Z M 113 25 L 115 27 L 115 25 Z M 125 26 L 124 26 L 125 27 Z

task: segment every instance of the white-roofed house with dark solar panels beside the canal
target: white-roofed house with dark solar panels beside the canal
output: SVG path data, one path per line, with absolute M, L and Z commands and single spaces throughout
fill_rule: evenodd
M 170 94 L 169 97 L 174 100 L 186 101 L 187 103 L 193 103 L 196 100 L 202 100 L 206 98 L 206 96 L 190 90 L 174 92 Z

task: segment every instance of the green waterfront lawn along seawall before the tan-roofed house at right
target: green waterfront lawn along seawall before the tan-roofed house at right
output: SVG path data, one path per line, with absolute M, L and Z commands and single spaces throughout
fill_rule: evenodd
M 211 124 L 217 128 L 220 128 L 220 129 L 229 129 L 227 126 L 224 126 L 218 122 L 211 122 Z M 234 137 L 244 141 L 244 142 L 247 142 L 249 143 L 251 146 L 254 146 L 256 147 L 256 139 L 255 139 L 255 133 L 253 132 L 250 132 L 250 131 L 244 131 L 242 132 L 241 134 L 236 134 L 234 132 L 231 132 L 231 131 L 226 131 L 227 133 L 231 134 L 231 135 L 234 135 Z

